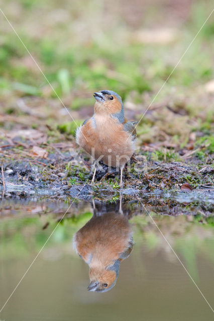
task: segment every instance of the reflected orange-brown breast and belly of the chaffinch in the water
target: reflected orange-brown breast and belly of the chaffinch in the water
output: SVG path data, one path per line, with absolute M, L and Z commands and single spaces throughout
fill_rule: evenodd
M 90 267 L 101 269 L 119 259 L 128 247 L 131 234 L 127 218 L 109 212 L 91 218 L 75 234 L 75 247 Z

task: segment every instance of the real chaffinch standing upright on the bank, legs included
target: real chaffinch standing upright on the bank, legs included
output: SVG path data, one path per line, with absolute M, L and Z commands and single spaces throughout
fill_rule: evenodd
M 94 159 L 94 183 L 99 161 L 120 169 L 120 187 L 123 170 L 135 151 L 135 122 L 124 117 L 121 97 L 112 90 L 94 92 L 94 114 L 76 130 L 76 142 Z

